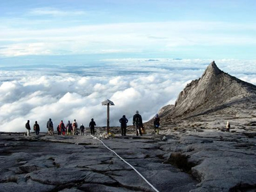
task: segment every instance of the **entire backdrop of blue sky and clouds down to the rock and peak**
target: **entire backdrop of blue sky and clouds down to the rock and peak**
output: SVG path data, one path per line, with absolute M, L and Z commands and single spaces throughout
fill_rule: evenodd
M 255 84 L 255 2 L 0 0 L 0 131 L 147 121 L 212 60 Z

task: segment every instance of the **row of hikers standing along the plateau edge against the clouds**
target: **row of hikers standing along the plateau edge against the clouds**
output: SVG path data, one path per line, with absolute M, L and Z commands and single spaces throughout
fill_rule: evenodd
M 123 115 L 122 118 L 119 119 L 119 122 L 121 123 L 121 136 L 126 136 L 126 127 L 127 127 L 128 119 L 126 119 L 125 115 Z M 30 121 L 28 120 L 25 125 L 28 136 L 30 135 L 30 130 L 31 130 L 29 123 Z M 145 134 L 145 128 L 143 126 L 142 117 L 139 114 L 139 111 L 136 111 L 136 114 L 133 116 L 133 125 L 135 126 L 137 136 L 139 134 L 140 135 Z M 89 123 L 91 135 L 95 135 L 95 126 L 96 126 L 96 122 L 92 118 L 91 122 Z M 159 134 L 159 126 L 160 126 L 160 118 L 158 114 L 156 114 L 156 116 L 154 117 L 154 134 L 156 133 Z M 37 121 L 35 121 L 33 128 L 34 128 L 35 134 L 38 135 L 40 132 L 40 127 Z M 81 133 L 81 135 L 84 135 L 84 128 L 85 128 L 84 125 L 81 123 L 78 129 L 78 124 L 75 119 L 72 123 L 68 121 L 66 125 L 63 123 L 63 120 L 61 120 L 57 126 L 57 132 L 58 132 L 58 135 L 78 135 L 79 132 Z M 51 118 L 47 121 L 47 130 L 49 135 L 54 135 L 53 122 Z

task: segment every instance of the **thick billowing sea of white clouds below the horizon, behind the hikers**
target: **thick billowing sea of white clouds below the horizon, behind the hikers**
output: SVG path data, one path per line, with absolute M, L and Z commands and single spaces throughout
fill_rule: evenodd
M 138 110 L 150 120 L 191 80 L 198 79 L 212 60 L 105 59 L 84 65 L 0 66 L 1 132 L 25 132 L 25 123 L 38 121 L 42 132 L 51 118 L 54 130 L 63 120 L 88 127 L 91 118 L 106 126 L 109 99 L 110 126 L 119 126 L 125 115 L 132 124 Z M 230 75 L 256 84 L 255 60 L 222 59 L 217 66 Z

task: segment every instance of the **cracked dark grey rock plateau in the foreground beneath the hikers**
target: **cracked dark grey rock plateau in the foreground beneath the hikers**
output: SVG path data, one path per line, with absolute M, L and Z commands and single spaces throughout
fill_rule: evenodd
M 231 130 L 161 129 L 101 141 L 161 192 L 255 191 L 256 133 Z M 89 132 L 2 134 L 0 191 L 155 191 Z

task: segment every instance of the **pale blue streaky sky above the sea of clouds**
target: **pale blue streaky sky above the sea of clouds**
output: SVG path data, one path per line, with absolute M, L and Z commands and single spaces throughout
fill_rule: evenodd
M 1 1 L 0 65 L 255 59 L 255 8 L 254 0 Z

